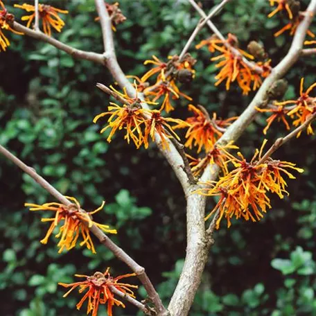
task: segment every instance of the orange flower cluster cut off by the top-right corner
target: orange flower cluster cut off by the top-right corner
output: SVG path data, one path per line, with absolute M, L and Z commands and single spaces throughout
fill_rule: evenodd
M 301 23 L 301 21 L 304 19 L 304 12 L 301 12 L 299 9 L 301 8 L 300 1 L 297 0 L 270 0 L 270 6 L 277 5 L 277 8 L 275 8 L 272 12 L 270 12 L 267 17 L 273 17 L 277 14 L 277 12 L 280 12 L 281 14 L 283 12 L 287 13 L 288 16 L 288 23 L 286 26 L 283 26 L 281 30 L 278 30 L 276 33 L 274 33 L 274 37 L 278 37 L 279 35 L 283 34 L 286 30 L 290 31 L 290 35 L 294 35 L 295 31 L 297 30 L 297 26 Z M 310 31 L 307 30 L 307 34 L 310 37 L 315 37 L 315 35 Z

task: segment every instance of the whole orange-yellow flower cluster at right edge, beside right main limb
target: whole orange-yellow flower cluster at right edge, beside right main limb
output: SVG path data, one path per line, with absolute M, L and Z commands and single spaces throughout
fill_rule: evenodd
M 259 112 L 270 112 L 271 116 L 267 119 L 267 126 L 263 130 L 263 133 L 266 134 L 268 128 L 273 121 L 283 121 L 286 125 L 286 129 L 290 130 L 290 125 L 286 121 L 286 117 L 294 119 L 292 122 L 293 126 L 299 126 L 304 124 L 308 117 L 316 112 L 316 97 L 310 96 L 310 92 L 316 87 L 316 82 L 308 87 L 304 92 L 304 78 L 301 78 L 301 85 L 299 89 L 299 98 L 297 100 L 286 100 L 283 102 L 274 102 L 273 105 L 269 105 L 267 109 L 258 109 Z M 308 134 L 313 134 L 313 128 L 308 125 L 307 128 Z M 301 132 L 297 134 L 299 137 Z

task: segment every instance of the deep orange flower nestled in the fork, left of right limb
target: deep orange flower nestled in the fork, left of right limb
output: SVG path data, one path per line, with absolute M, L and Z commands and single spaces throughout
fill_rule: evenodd
M 206 151 L 211 150 L 214 143 L 222 136 L 222 128 L 225 128 L 230 124 L 230 121 L 236 119 L 217 120 L 216 113 L 213 113 L 213 119 L 211 119 L 203 107 L 200 106 L 200 109 L 198 109 L 192 104 L 188 105 L 188 110 L 193 112 L 193 116 L 174 128 L 188 128 L 184 146 L 190 149 L 192 149 L 192 146 L 198 146 L 198 152 L 202 148 Z

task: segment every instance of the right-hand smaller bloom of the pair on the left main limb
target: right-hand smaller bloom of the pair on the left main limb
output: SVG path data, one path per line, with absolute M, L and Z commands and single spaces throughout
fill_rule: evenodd
M 150 119 L 146 119 L 145 125 L 146 130 L 143 137 L 143 143 L 145 148 L 148 148 L 148 138 L 151 137 L 152 141 L 155 141 L 155 132 L 157 132 L 161 138 L 161 144 L 164 149 L 169 149 L 169 144 L 166 141 L 166 138 L 173 138 L 180 140 L 177 134 L 171 128 L 170 123 L 184 123 L 180 119 L 171 119 L 171 118 L 164 118 L 161 116 L 160 111 L 157 109 L 148 110 L 147 114 L 150 115 Z

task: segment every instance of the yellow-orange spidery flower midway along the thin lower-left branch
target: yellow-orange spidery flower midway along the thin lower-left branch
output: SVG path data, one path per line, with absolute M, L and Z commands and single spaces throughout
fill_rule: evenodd
M 46 245 L 47 241 L 55 227 L 58 227 L 60 222 L 64 222 L 62 227 L 59 228 L 59 232 L 55 235 L 56 238 L 60 238 L 58 247 L 60 247 L 59 253 L 63 249 L 70 250 L 76 246 L 77 240 L 81 234 L 83 240 L 80 243 L 80 246 L 86 245 L 88 249 L 95 254 L 96 250 L 94 249 L 94 243 L 92 242 L 89 227 L 96 225 L 96 227 L 102 229 L 106 233 L 116 234 L 116 229 L 109 229 L 108 225 L 101 225 L 92 220 L 92 215 L 97 213 L 101 209 L 105 202 L 102 203 L 98 209 L 91 212 L 82 211 L 79 202 L 75 198 L 70 196 L 65 196 L 65 198 L 74 202 L 74 204 L 64 205 L 60 203 L 45 203 L 42 205 L 26 203 L 26 207 L 30 207 L 30 211 L 54 211 L 55 217 L 53 218 L 42 218 L 42 222 L 51 222 L 51 227 L 47 231 L 46 236 L 41 240 L 41 243 Z

